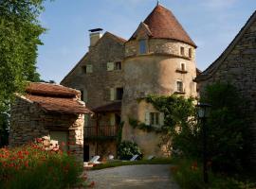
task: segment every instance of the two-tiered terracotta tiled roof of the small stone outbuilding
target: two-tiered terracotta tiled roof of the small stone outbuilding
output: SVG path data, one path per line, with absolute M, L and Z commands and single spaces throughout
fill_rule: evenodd
M 88 113 L 84 104 L 77 98 L 80 92 L 62 85 L 49 83 L 29 83 L 25 97 L 37 103 L 46 112 Z

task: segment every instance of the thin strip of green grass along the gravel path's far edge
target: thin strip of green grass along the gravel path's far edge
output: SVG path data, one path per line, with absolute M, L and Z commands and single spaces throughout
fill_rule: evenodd
M 117 166 L 124 166 L 124 165 L 134 165 L 134 164 L 170 164 L 172 163 L 171 159 L 168 158 L 161 158 L 161 159 L 153 159 L 153 160 L 139 160 L 134 162 L 122 162 L 120 160 L 108 162 L 108 163 L 102 163 L 94 166 L 92 170 L 99 170 L 104 168 L 110 168 L 110 167 L 117 167 Z

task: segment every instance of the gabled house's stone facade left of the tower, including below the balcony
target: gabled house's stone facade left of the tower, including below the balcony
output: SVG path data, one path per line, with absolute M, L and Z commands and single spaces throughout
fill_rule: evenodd
M 106 32 L 99 42 L 91 45 L 89 52 L 82 58 L 77 66 L 61 82 L 64 86 L 75 88 L 83 92 L 83 100 L 86 107 L 94 110 L 101 106 L 119 101 L 111 99 L 111 90 L 124 87 L 123 69 L 108 70 L 108 62 L 120 62 L 120 68 L 123 66 L 124 59 L 124 41 L 119 37 Z M 92 65 L 92 73 L 85 73 L 84 67 Z M 93 117 L 86 117 L 86 127 L 95 128 L 117 125 L 113 116 L 120 116 L 119 112 L 108 112 L 95 114 Z M 114 122 L 114 123 L 113 123 Z M 87 128 L 88 129 L 88 128 Z M 85 129 L 86 130 L 86 129 Z M 91 129 L 92 130 L 92 129 Z M 106 152 L 117 155 L 117 144 L 115 140 L 104 139 L 108 143 Z M 101 141 L 97 138 L 88 140 L 84 138 L 84 146 L 89 146 L 89 158 L 94 155 L 107 154 L 101 153 Z M 88 158 L 85 158 L 86 160 Z

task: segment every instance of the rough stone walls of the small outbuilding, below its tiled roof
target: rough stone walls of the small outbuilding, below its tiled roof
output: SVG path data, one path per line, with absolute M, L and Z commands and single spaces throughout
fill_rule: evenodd
M 16 97 L 10 112 L 9 146 L 49 136 L 51 130 L 67 131 L 68 150 L 82 160 L 83 116 L 45 112 L 25 97 Z

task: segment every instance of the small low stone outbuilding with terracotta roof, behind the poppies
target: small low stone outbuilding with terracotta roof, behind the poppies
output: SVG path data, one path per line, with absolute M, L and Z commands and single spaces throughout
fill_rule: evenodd
M 9 146 L 49 136 L 82 160 L 83 117 L 90 113 L 79 91 L 61 85 L 29 83 L 11 106 Z

